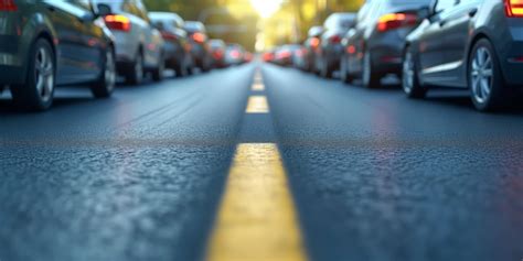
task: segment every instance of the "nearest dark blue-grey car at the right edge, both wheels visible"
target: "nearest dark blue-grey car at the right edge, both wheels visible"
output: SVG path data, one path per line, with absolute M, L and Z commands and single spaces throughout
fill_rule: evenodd
M 435 1 L 407 37 L 403 89 L 423 98 L 430 85 L 468 88 L 476 108 L 504 107 L 523 86 L 523 2 Z

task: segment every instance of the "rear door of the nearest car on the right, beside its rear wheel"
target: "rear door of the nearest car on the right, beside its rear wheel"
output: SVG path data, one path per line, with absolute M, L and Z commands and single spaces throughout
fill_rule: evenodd
M 441 72 L 445 79 L 460 87 L 467 87 L 466 77 L 460 77 L 467 68 L 467 46 L 469 44 L 470 22 L 474 19 L 483 0 L 460 0 L 456 8 L 442 21 L 446 32 L 446 41 L 442 48 L 446 51 L 441 56 L 442 64 L 448 65 Z

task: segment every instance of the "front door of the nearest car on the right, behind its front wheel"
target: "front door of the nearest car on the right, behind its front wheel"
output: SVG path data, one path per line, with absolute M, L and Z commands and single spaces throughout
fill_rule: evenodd
M 456 8 L 457 0 L 437 1 L 433 15 L 428 19 L 425 32 L 419 37 L 419 63 L 423 78 L 427 83 L 441 84 L 445 80 L 446 68 L 445 47 L 448 32 L 445 28 L 449 14 Z M 427 21 L 426 21 L 427 22 Z

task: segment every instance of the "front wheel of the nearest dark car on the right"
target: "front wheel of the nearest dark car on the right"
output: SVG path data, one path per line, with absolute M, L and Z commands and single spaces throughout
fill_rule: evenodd
M 427 88 L 419 83 L 418 70 L 410 47 L 405 52 L 403 58 L 402 87 L 408 98 L 424 98 Z

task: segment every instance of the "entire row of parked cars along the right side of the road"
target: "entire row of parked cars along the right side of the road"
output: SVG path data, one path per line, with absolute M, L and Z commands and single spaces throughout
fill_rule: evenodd
M 523 0 L 367 0 L 263 58 L 367 88 L 396 75 L 409 98 L 468 89 L 478 110 L 497 110 L 523 86 Z

